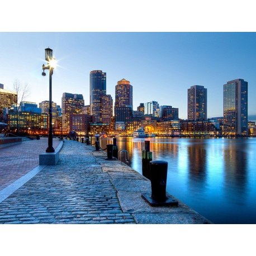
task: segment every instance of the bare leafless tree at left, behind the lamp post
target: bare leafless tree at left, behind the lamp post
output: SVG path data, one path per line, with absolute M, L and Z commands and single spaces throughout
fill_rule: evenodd
M 18 112 L 21 110 L 21 105 L 18 102 L 22 102 L 26 99 L 27 96 L 30 94 L 29 84 L 25 83 L 22 84 L 20 80 L 16 79 L 13 82 L 13 90 L 17 93 L 17 103 L 16 103 L 16 122 L 17 122 L 17 132 L 19 134 L 20 130 L 18 127 Z

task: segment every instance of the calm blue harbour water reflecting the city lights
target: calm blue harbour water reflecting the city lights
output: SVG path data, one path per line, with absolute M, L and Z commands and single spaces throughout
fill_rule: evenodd
M 219 224 L 256 224 L 256 138 L 146 138 L 168 162 L 167 191 Z M 102 148 L 112 139 L 102 139 Z M 144 139 L 117 138 L 141 173 Z

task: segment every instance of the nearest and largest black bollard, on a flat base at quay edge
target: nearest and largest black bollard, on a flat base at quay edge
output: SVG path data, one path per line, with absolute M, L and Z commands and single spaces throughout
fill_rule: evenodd
M 168 163 L 165 161 L 150 162 L 151 195 L 144 193 L 141 196 L 151 206 L 177 206 L 178 201 L 166 193 Z

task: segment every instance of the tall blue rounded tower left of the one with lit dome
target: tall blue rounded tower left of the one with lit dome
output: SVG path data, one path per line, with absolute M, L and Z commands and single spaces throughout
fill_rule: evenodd
M 90 72 L 90 106 L 95 122 L 101 122 L 102 96 L 106 95 L 106 73 L 102 70 Z

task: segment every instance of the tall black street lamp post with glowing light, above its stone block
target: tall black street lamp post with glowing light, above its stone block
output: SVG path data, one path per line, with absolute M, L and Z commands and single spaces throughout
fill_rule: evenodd
M 51 99 L 51 76 L 53 75 L 53 69 L 55 67 L 56 60 L 53 58 L 53 50 L 50 48 L 45 49 L 45 60 L 47 61 L 47 65 L 42 65 L 42 75 L 45 76 L 45 69 L 49 69 L 49 134 L 48 134 L 48 148 L 46 148 L 46 152 L 51 153 L 54 152 L 53 148 L 53 107 L 52 107 L 52 99 Z

